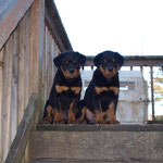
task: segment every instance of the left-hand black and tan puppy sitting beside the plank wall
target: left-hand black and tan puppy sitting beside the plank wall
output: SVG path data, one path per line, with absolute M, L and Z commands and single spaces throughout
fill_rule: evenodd
M 76 105 L 80 99 L 80 67 L 86 57 L 74 51 L 63 52 L 53 60 L 58 67 L 50 97 L 45 106 L 46 123 L 76 123 Z

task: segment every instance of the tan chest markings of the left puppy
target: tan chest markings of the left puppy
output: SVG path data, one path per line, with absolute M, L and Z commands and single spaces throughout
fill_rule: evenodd
M 61 85 L 55 85 L 55 90 L 57 93 L 59 95 L 66 95 L 66 96 L 77 96 L 79 95 L 82 87 L 80 86 L 61 86 Z

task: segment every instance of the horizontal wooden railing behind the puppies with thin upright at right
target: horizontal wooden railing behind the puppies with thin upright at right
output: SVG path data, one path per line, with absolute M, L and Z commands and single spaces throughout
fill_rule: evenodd
M 149 67 L 149 73 L 150 73 L 150 90 L 151 90 L 151 96 L 149 99 L 149 102 L 151 102 L 152 106 L 152 121 L 155 120 L 155 101 L 154 101 L 154 67 L 161 67 L 163 70 L 163 57 L 162 55 L 143 55 L 143 57 L 136 57 L 136 55 L 127 55 L 124 57 L 125 62 L 123 66 L 129 67 L 130 71 L 134 71 L 134 67 L 139 67 L 139 71 L 142 72 L 145 75 L 145 68 Z M 85 66 L 90 66 L 91 70 L 93 70 L 93 62 L 92 62 L 93 57 L 87 57 L 87 62 Z

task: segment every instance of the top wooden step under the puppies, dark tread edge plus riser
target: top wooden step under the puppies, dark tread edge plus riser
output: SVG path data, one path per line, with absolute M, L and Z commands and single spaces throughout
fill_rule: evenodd
M 30 136 L 29 155 L 42 163 L 162 162 L 163 125 L 40 124 Z

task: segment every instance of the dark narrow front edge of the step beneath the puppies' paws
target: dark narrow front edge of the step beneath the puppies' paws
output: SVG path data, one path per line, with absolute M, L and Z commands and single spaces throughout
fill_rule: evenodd
M 149 122 L 148 122 L 149 123 Z M 150 122 L 152 123 L 152 122 Z M 163 123 L 162 123 L 163 124 Z M 163 125 L 49 125 L 38 124 L 38 131 L 163 131 Z

